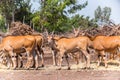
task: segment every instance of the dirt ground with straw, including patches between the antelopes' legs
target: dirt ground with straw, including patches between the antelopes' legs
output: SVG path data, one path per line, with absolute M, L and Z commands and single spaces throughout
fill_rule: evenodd
M 52 55 L 45 55 L 45 67 L 39 70 L 7 70 L 0 69 L 0 80 L 120 80 L 120 67 L 116 64 L 109 64 L 96 67 L 97 63 L 91 63 L 90 70 L 84 70 L 84 63 L 75 65 L 74 60 L 70 60 L 71 70 L 67 70 L 66 61 L 63 61 L 62 70 L 52 66 Z

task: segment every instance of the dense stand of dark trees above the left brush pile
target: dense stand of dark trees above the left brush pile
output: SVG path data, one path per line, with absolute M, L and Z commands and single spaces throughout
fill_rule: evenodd
M 0 0 L 0 14 L 5 18 L 5 27 L 14 21 L 30 24 L 30 0 Z

